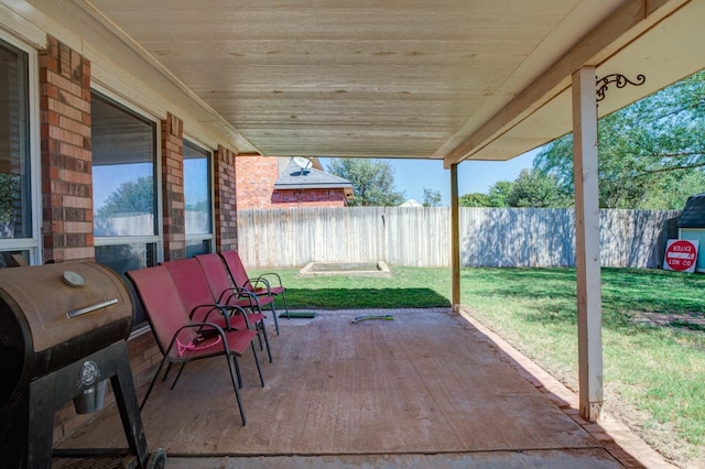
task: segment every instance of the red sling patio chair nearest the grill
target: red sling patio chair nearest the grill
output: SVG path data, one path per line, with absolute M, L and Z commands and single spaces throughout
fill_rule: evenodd
M 264 379 L 252 342 L 257 332 L 250 329 L 224 330 L 215 323 L 192 323 L 188 318 L 188 310 L 181 299 L 178 288 L 164 265 L 129 271 L 127 276 L 134 285 L 152 326 L 156 343 L 164 356 L 142 400 L 140 410 L 144 407 L 165 363 L 186 363 L 193 360 L 224 356 L 228 363 L 240 418 L 245 425 L 247 419 L 238 390 L 239 386 L 242 386 L 238 357 L 242 356 L 248 345 L 251 347 L 260 383 L 263 388 Z M 172 388 L 175 384 L 176 381 Z

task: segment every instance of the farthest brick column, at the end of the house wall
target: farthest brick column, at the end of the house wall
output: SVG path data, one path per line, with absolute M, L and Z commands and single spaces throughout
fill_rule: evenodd
M 215 166 L 216 250 L 238 248 L 235 152 L 218 145 Z

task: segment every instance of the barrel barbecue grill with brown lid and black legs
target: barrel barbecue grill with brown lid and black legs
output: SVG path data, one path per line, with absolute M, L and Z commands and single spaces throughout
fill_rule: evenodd
M 110 379 L 137 467 L 151 457 L 126 339 L 134 306 L 122 279 L 95 263 L 0 270 L 0 461 L 48 468 L 54 413 L 74 400 L 79 413 L 101 406 Z

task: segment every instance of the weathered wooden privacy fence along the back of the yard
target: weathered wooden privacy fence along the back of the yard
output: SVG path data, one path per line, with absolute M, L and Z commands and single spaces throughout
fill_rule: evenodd
M 601 210 L 601 264 L 658 268 L 673 210 Z M 462 266 L 573 266 L 572 209 L 460 208 Z M 671 231 L 671 236 L 673 232 Z M 338 207 L 238 211 L 246 265 L 303 268 L 308 262 L 384 261 L 449 266 L 447 207 Z

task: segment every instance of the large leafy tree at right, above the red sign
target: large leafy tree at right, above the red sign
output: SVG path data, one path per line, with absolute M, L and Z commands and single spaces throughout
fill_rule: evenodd
M 598 145 L 600 207 L 681 208 L 683 182 L 703 187 L 705 70 L 601 118 Z M 572 194 L 573 135 L 546 145 L 534 168 Z

